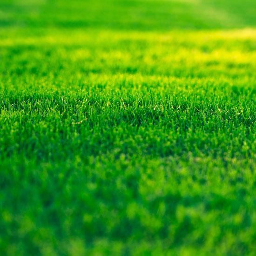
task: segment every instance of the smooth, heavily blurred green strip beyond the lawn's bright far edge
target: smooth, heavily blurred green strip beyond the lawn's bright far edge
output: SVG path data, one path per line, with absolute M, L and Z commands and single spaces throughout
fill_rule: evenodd
M 124 30 L 256 26 L 255 0 L 1 0 L 1 27 Z

